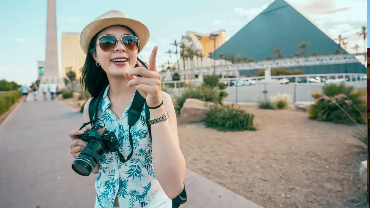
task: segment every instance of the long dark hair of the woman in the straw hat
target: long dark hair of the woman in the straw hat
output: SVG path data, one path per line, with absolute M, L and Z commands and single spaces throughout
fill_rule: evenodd
M 122 25 L 120 25 L 122 26 Z M 132 34 L 136 36 L 134 31 L 131 30 L 131 28 L 125 27 L 127 30 L 129 30 Z M 103 29 L 104 30 L 104 29 Z M 101 66 L 95 65 L 95 59 L 92 57 L 92 53 L 96 52 L 96 42 L 98 39 L 98 34 L 100 31 L 95 34 L 95 36 L 91 39 L 89 44 L 89 52 L 86 54 L 85 64 L 80 69 L 81 71 L 81 79 L 80 84 L 81 88 L 87 90 L 91 97 L 98 97 L 99 93 L 102 91 L 102 89 L 105 87 L 105 85 L 108 84 L 108 77 L 107 73 L 101 68 Z M 138 48 L 139 51 L 139 48 Z M 137 63 L 135 64 L 135 67 L 145 67 L 148 68 L 148 64 L 142 61 L 139 57 L 137 57 Z

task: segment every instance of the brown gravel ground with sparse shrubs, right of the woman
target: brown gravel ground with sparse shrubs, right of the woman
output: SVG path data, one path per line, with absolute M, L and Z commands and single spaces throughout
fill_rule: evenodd
M 355 128 L 307 119 L 293 110 L 260 110 L 258 131 L 219 132 L 179 124 L 187 168 L 263 207 L 354 207 L 359 177 Z M 363 126 L 365 128 L 365 126 Z

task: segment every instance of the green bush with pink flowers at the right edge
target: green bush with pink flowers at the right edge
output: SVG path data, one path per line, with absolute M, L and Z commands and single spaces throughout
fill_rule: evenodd
M 325 84 L 322 93 L 313 92 L 315 104 L 307 112 L 309 118 L 340 124 L 364 124 L 366 113 L 365 91 L 355 91 L 353 86 L 344 83 Z

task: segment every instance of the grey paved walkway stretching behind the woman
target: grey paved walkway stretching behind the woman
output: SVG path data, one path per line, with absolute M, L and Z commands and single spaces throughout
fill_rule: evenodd
M 97 174 L 71 169 L 68 132 L 81 126 L 81 113 L 60 101 L 28 96 L 0 125 L 0 207 L 91 208 Z M 188 202 L 181 208 L 261 208 L 187 170 Z

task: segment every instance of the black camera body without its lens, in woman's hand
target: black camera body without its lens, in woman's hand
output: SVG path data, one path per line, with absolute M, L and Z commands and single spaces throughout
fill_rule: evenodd
M 115 134 L 108 131 L 100 124 L 92 125 L 91 129 L 84 131 L 83 134 L 77 135 L 82 141 L 89 143 L 91 140 L 99 140 L 104 145 L 104 152 L 118 151 L 119 142 Z

